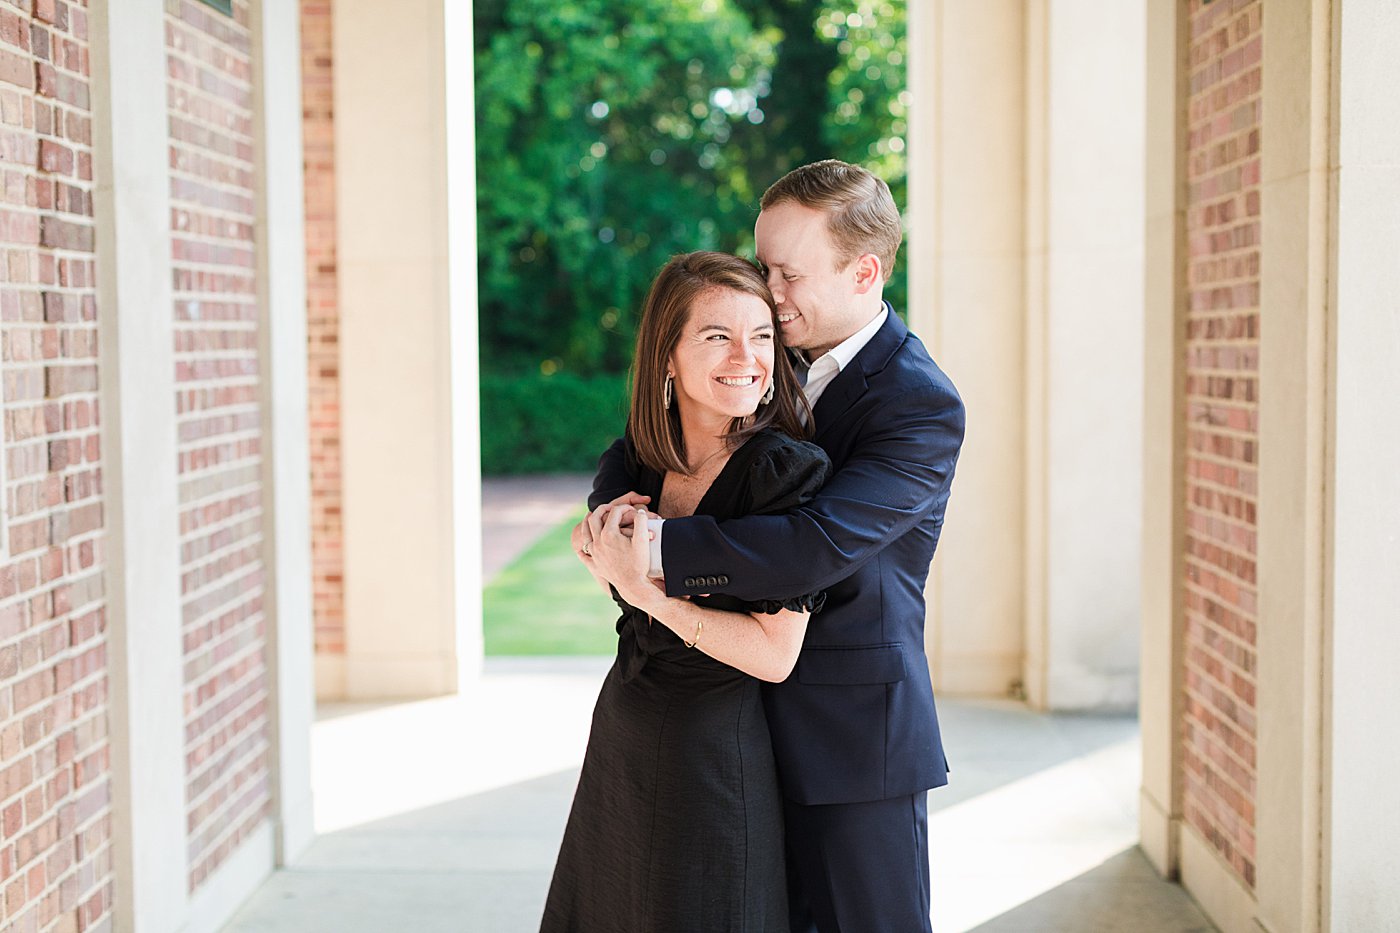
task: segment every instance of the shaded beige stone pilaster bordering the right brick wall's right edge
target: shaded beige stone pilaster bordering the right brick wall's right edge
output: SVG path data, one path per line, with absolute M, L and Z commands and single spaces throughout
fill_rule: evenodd
M 1263 10 L 1254 890 L 1182 864 L 1226 930 L 1320 920 L 1331 6 Z

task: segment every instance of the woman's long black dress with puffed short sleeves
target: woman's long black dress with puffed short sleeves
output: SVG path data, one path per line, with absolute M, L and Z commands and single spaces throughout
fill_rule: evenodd
M 811 499 L 830 462 L 819 447 L 760 431 L 696 506 L 732 518 Z M 640 468 L 637 492 L 661 502 Z M 820 608 L 820 595 L 735 612 Z M 619 601 L 617 658 L 594 707 L 542 933 L 787 933 L 783 804 L 759 681 Z

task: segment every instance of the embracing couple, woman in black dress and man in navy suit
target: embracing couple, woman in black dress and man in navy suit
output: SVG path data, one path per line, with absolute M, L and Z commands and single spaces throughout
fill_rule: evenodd
M 622 608 L 545 933 L 930 930 L 924 583 L 963 408 L 883 301 L 885 182 L 774 184 L 673 258 L 574 530 Z

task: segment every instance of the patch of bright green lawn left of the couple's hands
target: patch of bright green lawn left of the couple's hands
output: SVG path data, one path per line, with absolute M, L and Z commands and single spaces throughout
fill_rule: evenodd
M 567 518 L 486 584 L 482 594 L 487 654 L 612 654 L 617 604 L 568 546 L 584 516 Z

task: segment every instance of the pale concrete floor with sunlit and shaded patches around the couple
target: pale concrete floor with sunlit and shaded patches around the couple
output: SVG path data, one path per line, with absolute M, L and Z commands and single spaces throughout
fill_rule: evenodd
M 227 933 L 538 929 L 606 658 L 496 660 L 462 696 L 321 710 L 316 828 Z M 1212 930 L 1134 848 L 1137 724 L 941 705 L 934 929 Z

